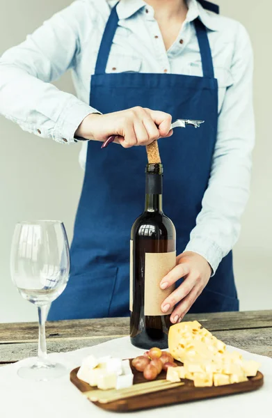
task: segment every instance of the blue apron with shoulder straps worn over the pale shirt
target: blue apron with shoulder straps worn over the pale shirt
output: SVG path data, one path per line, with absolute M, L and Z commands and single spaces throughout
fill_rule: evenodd
M 201 1 L 205 7 L 214 5 Z M 213 9 L 214 10 L 214 9 Z M 216 11 L 216 10 L 215 10 Z M 118 27 L 114 7 L 106 24 L 90 87 L 90 104 L 103 114 L 134 106 L 205 121 L 200 129 L 177 129 L 161 139 L 163 208 L 177 230 L 177 254 L 184 251 L 207 189 L 218 123 L 218 84 L 207 30 L 195 20 L 203 77 L 122 72 L 106 64 Z M 71 247 L 70 281 L 49 312 L 49 320 L 129 316 L 129 239 L 143 212 L 145 147 L 101 149 L 88 142 L 86 173 Z M 239 309 L 228 254 L 191 312 Z

